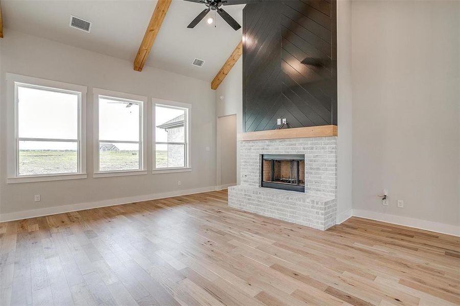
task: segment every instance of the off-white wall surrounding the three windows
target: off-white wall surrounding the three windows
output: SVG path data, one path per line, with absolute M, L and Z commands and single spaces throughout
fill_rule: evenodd
M 133 50 L 133 55 L 136 50 Z M 115 203 L 120 198 L 147 199 L 158 194 L 175 194 L 212 189 L 215 186 L 215 96 L 210 84 L 183 75 L 144 67 L 133 70 L 132 62 L 89 52 L 42 38 L 5 31 L 1 45 L 1 164 L 0 207 L 6 216 L 20 211 L 53 208 L 101 201 Z M 5 72 L 88 86 L 87 96 L 87 172 L 88 179 L 59 182 L 6 184 L 6 100 Z M 92 87 L 175 100 L 192 105 L 192 172 L 97 178 L 92 173 Z M 152 169 L 150 103 L 148 104 L 147 169 Z M 206 151 L 209 146 L 211 150 Z M 177 186 L 177 181 L 181 186 Z M 182 190 L 182 191 L 181 191 Z M 34 203 L 34 194 L 41 202 Z M 109 199 L 118 199 L 106 201 Z M 75 208 L 75 207 L 74 207 Z M 61 208 L 63 209 L 63 208 Z M 53 209 L 43 210 L 49 213 Z

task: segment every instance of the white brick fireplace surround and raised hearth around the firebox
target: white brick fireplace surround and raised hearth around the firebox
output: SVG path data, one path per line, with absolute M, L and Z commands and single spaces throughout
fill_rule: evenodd
M 241 141 L 241 185 L 228 189 L 229 207 L 326 230 L 335 224 L 336 144 L 336 137 Z M 261 188 L 263 154 L 305 155 L 305 193 Z

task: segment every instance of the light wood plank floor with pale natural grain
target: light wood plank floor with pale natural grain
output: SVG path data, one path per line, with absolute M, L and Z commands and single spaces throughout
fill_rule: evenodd
M 460 239 L 326 232 L 209 192 L 0 224 L 2 305 L 460 304 Z

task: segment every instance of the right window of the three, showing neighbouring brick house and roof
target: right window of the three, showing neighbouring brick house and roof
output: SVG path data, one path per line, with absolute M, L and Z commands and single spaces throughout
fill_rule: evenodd
M 154 99 L 154 170 L 190 168 L 189 104 Z

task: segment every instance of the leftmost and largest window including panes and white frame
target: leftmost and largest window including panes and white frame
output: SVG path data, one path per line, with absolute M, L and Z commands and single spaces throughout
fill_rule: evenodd
M 7 80 L 14 101 L 8 183 L 86 177 L 86 87 L 11 73 Z

